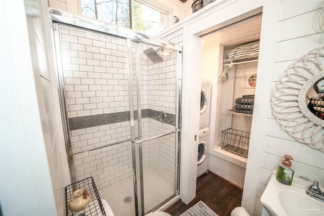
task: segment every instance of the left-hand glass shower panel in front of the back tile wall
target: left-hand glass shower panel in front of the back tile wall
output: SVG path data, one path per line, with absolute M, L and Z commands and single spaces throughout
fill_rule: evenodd
M 71 180 L 92 177 L 116 216 L 135 215 L 127 39 L 53 30 Z

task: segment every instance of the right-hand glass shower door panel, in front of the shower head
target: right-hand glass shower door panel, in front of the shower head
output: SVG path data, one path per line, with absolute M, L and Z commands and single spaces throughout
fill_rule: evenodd
M 129 42 L 135 193 L 143 215 L 178 194 L 179 52 Z

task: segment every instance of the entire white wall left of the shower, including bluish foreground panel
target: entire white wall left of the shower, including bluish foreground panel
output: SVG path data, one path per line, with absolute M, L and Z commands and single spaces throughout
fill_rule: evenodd
M 10 98 L 2 103 L 10 109 L 9 113 L 2 109 L 2 117 L 10 119 L 3 124 L 7 131 L 1 131 L 10 137 L 3 140 L 1 135 L 2 153 L 10 157 L 7 160 L 1 156 L 2 212 L 63 215 L 64 187 L 70 180 L 65 148 L 61 145 L 64 136 L 56 76 L 52 73 L 55 65 L 48 4 L 41 0 L 6 1 L 2 2 L 0 14 L 2 23 L 6 23 L 2 36 L 8 46 L 2 49 L 6 58 L 1 58 L 11 64 L 9 68 L 1 66 L 10 75 L 7 80 L 2 74 L 3 83 L 8 85 L 2 83 L 2 93 Z M 23 201 L 14 204 L 17 194 Z

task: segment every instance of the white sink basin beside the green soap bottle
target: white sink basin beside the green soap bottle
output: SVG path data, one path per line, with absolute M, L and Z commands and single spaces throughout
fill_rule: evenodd
M 274 170 L 260 199 L 271 216 L 324 214 L 324 202 L 305 193 L 309 182 L 294 178 L 292 185 L 284 185 L 276 180 L 276 174 Z

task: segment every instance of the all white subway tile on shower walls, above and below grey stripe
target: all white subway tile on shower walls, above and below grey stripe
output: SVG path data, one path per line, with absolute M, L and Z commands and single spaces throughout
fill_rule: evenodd
M 65 26 L 60 26 L 59 31 L 68 118 L 98 117 L 100 114 L 111 113 L 124 115 L 129 112 L 126 40 Z M 163 56 L 163 62 L 153 64 L 142 53 L 148 46 L 132 42 L 134 110 L 137 110 L 136 46 L 140 58 L 141 110 L 164 111 L 175 115 L 176 53 L 171 52 L 170 55 Z M 72 151 L 75 153 L 131 139 L 130 120 L 119 121 L 73 129 L 70 131 Z M 136 133 L 137 122 L 135 120 Z M 161 123 L 149 115 L 142 118 L 141 123 L 142 138 L 175 129 L 174 125 Z M 77 181 L 92 176 L 98 188 L 102 189 L 131 177 L 131 145 L 131 142 L 124 142 L 74 154 Z M 151 168 L 171 187 L 175 183 L 175 148 L 175 135 L 142 144 L 144 170 Z

